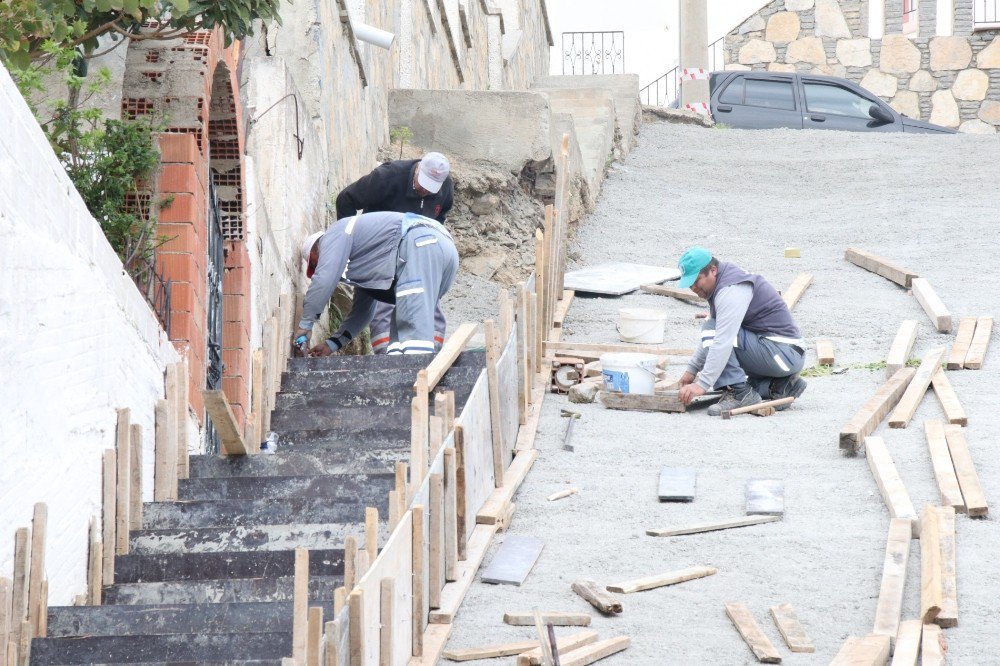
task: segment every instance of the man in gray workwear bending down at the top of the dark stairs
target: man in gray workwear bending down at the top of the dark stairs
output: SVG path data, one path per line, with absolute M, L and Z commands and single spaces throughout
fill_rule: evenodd
M 306 292 L 295 344 L 308 338 L 337 283 L 354 286 L 351 313 L 313 356 L 339 351 L 371 321 L 376 303 L 393 303 L 389 354 L 434 352 L 434 308 L 451 287 L 458 252 L 440 222 L 414 213 L 345 217 L 302 244 L 312 284 Z

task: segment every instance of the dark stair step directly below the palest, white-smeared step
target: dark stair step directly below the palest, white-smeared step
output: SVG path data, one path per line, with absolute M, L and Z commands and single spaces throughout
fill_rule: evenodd
M 309 552 L 309 574 L 311 576 L 340 576 L 343 573 L 343 548 Z M 277 578 L 293 575 L 295 575 L 295 551 L 290 549 L 249 552 L 137 553 L 115 556 L 115 583 L 120 584 Z

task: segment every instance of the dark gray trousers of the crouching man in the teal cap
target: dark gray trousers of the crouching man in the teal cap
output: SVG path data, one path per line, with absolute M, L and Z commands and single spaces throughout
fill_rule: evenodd
M 702 344 L 710 345 L 715 339 L 715 319 L 706 319 L 701 330 Z M 771 380 L 794 375 L 802 370 L 804 363 L 805 354 L 798 347 L 741 328 L 733 353 L 713 388 L 718 390 L 746 381 L 767 400 L 771 397 Z

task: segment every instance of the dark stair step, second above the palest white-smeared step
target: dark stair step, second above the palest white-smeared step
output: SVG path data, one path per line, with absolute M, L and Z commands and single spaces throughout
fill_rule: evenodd
M 181 479 L 181 500 L 324 497 L 375 506 L 395 487 L 395 474 L 331 474 L 327 476 L 273 476 Z

